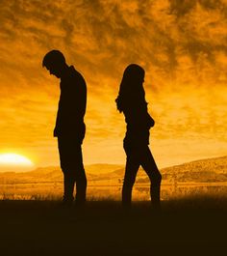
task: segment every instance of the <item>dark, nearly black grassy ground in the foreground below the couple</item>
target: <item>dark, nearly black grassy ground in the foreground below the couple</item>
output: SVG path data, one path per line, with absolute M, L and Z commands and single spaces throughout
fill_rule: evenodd
M 227 255 L 227 199 L 149 202 L 1 201 L 0 255 Z

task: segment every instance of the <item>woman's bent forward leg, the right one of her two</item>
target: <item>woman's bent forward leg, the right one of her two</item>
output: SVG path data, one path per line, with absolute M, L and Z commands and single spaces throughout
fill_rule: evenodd
M 156 165 L 154 157 L 152 156 L 148 146 L 144 146 L 143 150 L 140 151 L 140 154 L 141 166 L 147 173 L 151 182 L 150 196 L 152 205 L 159 206 L 162 175 Z

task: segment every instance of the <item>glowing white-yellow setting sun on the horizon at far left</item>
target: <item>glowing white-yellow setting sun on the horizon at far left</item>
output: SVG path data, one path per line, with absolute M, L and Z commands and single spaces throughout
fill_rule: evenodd
M 31 167 L 34 163 L 25 156 L 20 156 L 18 154 L 8 153 L 0 154 L 0 164 L 1 165 L 12 165 L 12 166 L 27 166 Z

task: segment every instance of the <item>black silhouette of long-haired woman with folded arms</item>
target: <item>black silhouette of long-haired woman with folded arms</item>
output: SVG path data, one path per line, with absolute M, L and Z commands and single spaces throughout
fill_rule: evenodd
M 116 106 L 123 112 L 127 131 L 124 138 L 124 150 L 127 156 L 124 183 L 122 188 L 122 203 L 130 206 L 132 189 L 139 166 L 148 175 L 151 186 L 152 205 L 160 206 L 160 186 L 162 176 L 148 147 L 149 129 L 155 124 L 147 112 L 147 102 L 143 89 L 145 71 L 139 65 L 131 64 L 124 71 L 120 83 Z

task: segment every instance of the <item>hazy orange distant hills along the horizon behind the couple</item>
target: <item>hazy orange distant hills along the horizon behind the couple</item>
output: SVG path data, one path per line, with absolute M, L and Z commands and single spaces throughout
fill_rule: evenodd
M 123 181 L 124 165 L 91 164 L 86 166 L 89 182 Z M 227 182 L 227 156 L 200 159 L 161 169 L 163 181 L 181 183 L 215 183 Z M 0 173 L 0 184 L 21 183 L 58 183 L 63 182 L 63 174 L 59 167 L 41 167 L 23 173 Z M 139 169 L 138 183 L 149 183 L 146 173 Z

